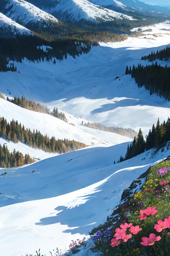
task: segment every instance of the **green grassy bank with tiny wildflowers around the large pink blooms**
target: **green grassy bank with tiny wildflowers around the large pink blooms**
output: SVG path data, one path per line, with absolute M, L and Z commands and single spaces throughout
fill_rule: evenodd
M 95 246 L 91 248 L 91 251 L 102 252 L 103 255 L 108 256 L 129 256 L 131 254 L 134 256 L 170 255 L 170 229 L 167 228 L 162 230 L 162 232 L 157 232 L 156 229 L 154 229 L 154 226 L 159 219 L 164 221 L 165 218 L 170 216 L 170 188 L 168 187 L 167 190 L 165 190 L 165 185 L 159 185 L 159 183 L 164 180 L 168 180 L 170 184 L 170 171 L 168 171 L 162 178 L 156 172 L 164 167 L 170 169 L 170 161 L 162 161 L 158 165 L 150 168 L 147 180 L 140 192 L 135 193 L 132 199 L 129 200 L 129 202 L 126 202 L 126 206 L 122 208 L 120 214 L 114 218 L 115 223 L 112 223 L 110 229 L 112 231 L 111 237 L 107 238 L 101 235 L 96 239 Z M 159 197 L 157 195 L 159 195 Z M 140 215 L 140 210 L 145 210 L 148 206 L 156 206 L 156 214 L 147 216 L 145 220 L 140 220 L 138 217 L 138 215 Z M 120 239 L 120 243 L 117 246 L 111 247 L 111 239 L 115 234 L 115 231 L 113 230 L 120 228 L 120 225 L 124 224 L 123 221 L 126 223 L 133 223 L 133 226 L 139 225 L 142 230 L 136 235 L 132 234 L 132 238 L 127 242 L 123 242 L 123 240 Z M 156 241 L 152 246 L 141 245 L 141 238 L 149 237 L 150 233 L 160 236 L 161 240 Z M 126 234 L 131 234 L 129 228 L 126 230 Z M 93 238 L 95 238 L 95 236 L 93 236 Z

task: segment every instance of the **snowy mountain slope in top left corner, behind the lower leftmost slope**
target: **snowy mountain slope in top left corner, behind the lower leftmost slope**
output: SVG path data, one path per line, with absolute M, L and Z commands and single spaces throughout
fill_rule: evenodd
M 39 26 L 57 25 L 58 20 L 24 0 L 1 0 L 0 11 L 24 26 L 38 23 Z

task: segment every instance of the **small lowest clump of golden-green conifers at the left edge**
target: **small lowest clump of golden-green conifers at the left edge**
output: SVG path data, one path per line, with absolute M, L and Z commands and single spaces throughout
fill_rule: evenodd
M 1 146 L 0 144 L 0 168 L 11 168 L 11 167 L 19 167 L 22 165 L 28 165 L 30 163 L 34 163 L 35 160 L 32 159 L 29 154 L 23 154 L 19 151 L 9 152 L 9 149 L 5 144 Z

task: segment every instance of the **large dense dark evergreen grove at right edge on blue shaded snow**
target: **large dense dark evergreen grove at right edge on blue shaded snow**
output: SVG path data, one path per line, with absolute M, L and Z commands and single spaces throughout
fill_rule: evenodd
M 152 65 L 139 65 L 131 69 L 126 68 L 125 74 L 129 74 L 134 78 L 138 88 L 144 86 L 150 91 L 150 95 L 156 94 L 163 96 L 166 100 L 170 100 L 170 67 L 158 66 L 157 62 Z

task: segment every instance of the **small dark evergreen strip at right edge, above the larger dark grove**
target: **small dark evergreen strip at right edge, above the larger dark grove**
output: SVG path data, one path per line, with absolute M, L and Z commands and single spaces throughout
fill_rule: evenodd
M 166 46 L 166 48 L 162 50 L 157 50 L 151 52 L 151 54 L 148 54 L 147 56 L 142 56 L 141 60 L 148 60 L 148 61 L 154 61 L 156 59 L 165 60 L 168 61 L 170 59 L 170 48 L 169 46 Z

